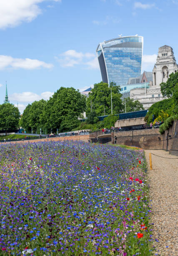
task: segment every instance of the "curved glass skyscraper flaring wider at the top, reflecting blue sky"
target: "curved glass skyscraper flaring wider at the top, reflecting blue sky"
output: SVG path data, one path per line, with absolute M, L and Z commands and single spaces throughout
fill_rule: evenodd
M 96 49 L 103 82 L 127 84 L 139 77 L 143 55 L 143 36 L 121 36 L 100 43 Z

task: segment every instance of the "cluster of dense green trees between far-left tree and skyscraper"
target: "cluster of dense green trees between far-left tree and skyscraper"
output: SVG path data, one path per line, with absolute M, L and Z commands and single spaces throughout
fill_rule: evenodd
M 50 129 L 53 132 L 69 131 L 77 126 L 78 116 L 85 111 L 86 97 L 73 87 L 60 87 L 48 101 L 39 100 L 29 104 L 20 120 L 25 130 Z

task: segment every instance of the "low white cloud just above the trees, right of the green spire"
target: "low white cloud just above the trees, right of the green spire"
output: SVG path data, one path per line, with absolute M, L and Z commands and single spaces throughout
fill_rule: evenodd
M 34 93 L 34 92 L 22 92 L 22 93 L 13 93 L 10 95 L 9 99 L 10 101 L 16 101 L 16 102 L 33 102 L 35 100 L 48 100 L 54 92 L 42 92 L 40 95 Z

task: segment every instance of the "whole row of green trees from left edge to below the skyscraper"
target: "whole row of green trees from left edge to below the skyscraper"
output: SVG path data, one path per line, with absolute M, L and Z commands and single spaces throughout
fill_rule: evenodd
M 112 93 L 112 110 L 111 110 Z M 119 114 L 131 111 L 142 110 L 143 105 L 138 101 L 127 98 L 125 102 L 121 100 L 120 86 L 111 83 L 100 82 L 94 84 L 88 98 L 81 95 L 79 90 L 73 87 L 60 87 L 49 100 L 34 101 L 29 104 L 20 118 L 18 108 L 13 104 L 0 105 L 0 129 L 10 130 L 19 126 L 27 132 L 40 133 L 40 128 L 44 133 L 71 131 L 75 129 L 86 111 L 88 123 L 98 122 L 97 116 Z

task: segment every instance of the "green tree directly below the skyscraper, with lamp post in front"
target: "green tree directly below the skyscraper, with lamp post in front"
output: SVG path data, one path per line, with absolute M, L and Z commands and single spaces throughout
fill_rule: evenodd
M 113 114 L 120 113 L 122 111 L 123 105 L 120 93 L 120 86 L 116 86 L 114 83 L 110 84 L 108 87 L 107 83 L 100 82 L 94 84 L 94 88 L 89 93 L 87 98 L 87 110 L 86 115 L 88 117 L 92 110 L 95 110 L 97 116 L 109 115 L 111 114 L 111 89 L 112 89 L 112 105 Z

